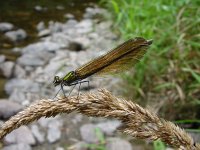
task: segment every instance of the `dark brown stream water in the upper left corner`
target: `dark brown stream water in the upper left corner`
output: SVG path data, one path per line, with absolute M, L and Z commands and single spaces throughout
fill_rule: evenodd
M 20 55 L 10 49 L 14 47 L 23 47 L 36 42 L 39 38 L 36 26 L 43 21 L 48 24 L 49 21 L 65 22 L 66 14 L 80 20 L 86 7 L 94 6 L 99 0 L 6 0 L 0 1 L 0 23 L 9 22 L 13 24 L 14 29 L 23 29 L 28 37 L 20 42 L 12 42 L 0 32 L 0 55 L 5 55 L 6 60 L 15 61 Z M 6 78 L 0 71 L 0 97 L 7 97 L 4 92 Z

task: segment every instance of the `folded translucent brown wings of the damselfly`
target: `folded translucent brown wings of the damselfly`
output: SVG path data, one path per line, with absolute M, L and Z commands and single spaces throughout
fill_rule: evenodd
M 130 39 L 117 48 L 76 69 L 76 75 L 79 79 L 84 79 L 95 73 L 103 74 L 103 72 L 106 72 L 108 74 L 117 72 L 121 68 L 126 68 L 126 65 L 130 64 L 129 61 L 136 63 L 150 44 L 151 42 L 146 41 L 144 38 Z

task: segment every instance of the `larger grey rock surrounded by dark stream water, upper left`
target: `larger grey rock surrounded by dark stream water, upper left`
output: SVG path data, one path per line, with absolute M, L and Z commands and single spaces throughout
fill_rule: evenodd
M 27 37 L 26 32 L 23 29 L 16 31 L 9 31 L 5 33 L 5 36 L 13 42 L 24 40 Z

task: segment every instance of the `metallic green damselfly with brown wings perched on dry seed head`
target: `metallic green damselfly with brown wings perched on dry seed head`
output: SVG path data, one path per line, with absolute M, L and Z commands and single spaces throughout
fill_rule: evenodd
M 108 53 L 89 61 L 75 71 L 70 71 L 64 77 L 55 76 L 54 86 L 60 85 L 64 93 L 64 86 L 75 86 L 88 82 L 83 79 L 91 75 L 116 74 L 126 71 L 143 57 L 151 44 L 152 40 L 145 40 L 141 37 L 130 39 Z

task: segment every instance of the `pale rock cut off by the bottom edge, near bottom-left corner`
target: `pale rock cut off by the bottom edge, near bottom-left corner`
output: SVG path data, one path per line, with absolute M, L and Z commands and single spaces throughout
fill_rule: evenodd
M 28 144 L 19 143 L 5 146 L 2 150 L 32 150 L 32 148 Z

